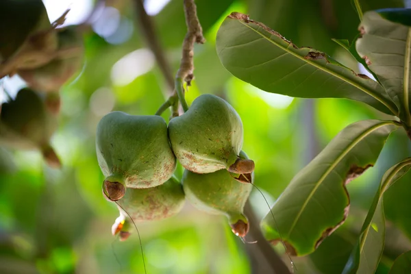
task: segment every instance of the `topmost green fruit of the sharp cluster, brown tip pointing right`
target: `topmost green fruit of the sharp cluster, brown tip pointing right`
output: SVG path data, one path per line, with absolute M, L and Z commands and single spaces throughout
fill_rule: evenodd
M 242 122 L 229 103 L 214 95 L 201 95 L 182 116 L 171 119 L 169 138 L 185 169 L 211 173 L 227 169 L 251 173 L 254 163 L 242 160 Z

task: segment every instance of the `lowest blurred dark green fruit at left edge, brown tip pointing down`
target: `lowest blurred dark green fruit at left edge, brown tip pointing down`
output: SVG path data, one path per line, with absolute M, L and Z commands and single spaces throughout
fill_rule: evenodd
M 53 167 L 60 167 L 49 140 L 58 127 L 55 116 L 34 90 L 21 89 L 16 99 L 1 105 L 0 142 L 16 149 L 40 149 Z

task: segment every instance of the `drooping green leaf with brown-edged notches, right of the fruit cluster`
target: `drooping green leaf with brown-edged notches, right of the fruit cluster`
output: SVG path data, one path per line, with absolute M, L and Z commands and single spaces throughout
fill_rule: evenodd
M 297 256 L 312 253 L 347 218 L 345 187 L 375 164 L 394 121 L 365 120 L 345 127 L 288 184 L 261 227 L 267 240 L 284 240 Z

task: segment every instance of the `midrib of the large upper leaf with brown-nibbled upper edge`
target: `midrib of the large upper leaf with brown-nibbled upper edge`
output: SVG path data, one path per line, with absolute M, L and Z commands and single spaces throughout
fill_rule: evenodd
M 379 95 L 377 95 L 375 92 L 373 92 L 373 90 L 369 90 L 368 88 L 364 88 L 364 86 L 353 82 L 351 79 L 348 79 L 347 77 L 344 77 L 343 75 L 340 75 L 338 73 L 334 73 L 334 71 L 331 71 L 329 69 L 327 69 L 325 66 L 320 66 L 319 64 L 316 64 L 316 62 L 313 62 L 312 60 L 308 60 L 303 58 L 301 55 L 290 51 L 288 49 L 288 47 L 282 47 L 282 45 L 279 45 L 277 42 L 271 40 L 270 38 L 266 37 L 264 34 L 262 34 L 262 32 L 258 32 L 257 29 L 254 29 L 253 27 L 250 27 L 248 23 L 245 23 L 242 20 L 239 19 L 234 19 L 239 21 L 240 23 L 242 23 L 242 25 L 245 25 L 246 27 L 248 27 L 249 29 L 253 30 L 253 32 L 256 32 L 257 34 L 260 34 L 260 36 L 264 37 L 266 40 L 268 40 L 269 42 L 271 42 L 272 44 L 276 45 L 277 47 L 283 49 L 284 51 L 290 53 L 291 55 L 295 56 L 296 58 L 298 58 L 299 60 L 302 60 L 304 62 L 307 62 L 308 64 L 311 64 L 312 66 L 315 66 L 317 69 L 320 69 L 321 71 L 324 71 L 325 73 L 329 73 L 331 75 L 333 75 L 334 77 L 337 77 L 341 80 L 343 80 L 344 82 L 347 82 L 348 84 L 351 84 L 351 86 L 355 86 L 356 88 L 358 88 L 359 90 L 362 90 L 363 92 L 365 92 L 367 95 L 370 95 L 371 97 L 373 97 L 374 99 L 376 99 L 377 101 L 379 101 L 380 103 L 382 103 L 383 105 L 386 106 L 386 108 L 388 108 L 388 110 L 390 110 L 390 112 L 392 112 L 393 114 L 398 116 L 398 110 L 395 110 L 395 108 L 393 108 L 391 105 L 389 105 L 388 103 L 386 103 L 386 101 L 384 100 L 384 98 L 379 97 Z M 260 27 L 260 26 L 259 26 Z M 285 42 L 285 41 L 284 41 Z M 343 67 L 343 66 L 341 66 Z M 347 68 L 348 69 L 348 68 Z M 372 80 L 371 80 L 372 81 Z

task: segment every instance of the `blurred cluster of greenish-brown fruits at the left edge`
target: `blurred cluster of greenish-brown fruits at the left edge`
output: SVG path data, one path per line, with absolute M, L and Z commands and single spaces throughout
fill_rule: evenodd
M 0 144 L 39 149 L 52 167 L 60 167 L 49 145 L 58 127 L 59 91 L 84 63 L 76 27 L 58 28 L 66 13 L 50 23 L 41 0 L 0 1 L 0 81 L 18 74 L 27 84 L 1 105 Z

